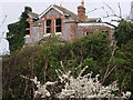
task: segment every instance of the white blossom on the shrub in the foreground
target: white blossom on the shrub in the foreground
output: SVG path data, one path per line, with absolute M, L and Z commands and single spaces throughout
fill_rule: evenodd
M 64 89 L 62 88 L 60 93 L 57 93 L 57 98 L 117 98 L 112 92 L 119 90 L 117 82 L 114 81 L 109 86 L 102 86 L 99 81 L 100 74 L 96 74 L 92 78 L 93 72 L 82 76 L 88 67 L 85 67 L 76 78 L 71 76 L 71 71 L 63 72 L 61 70 L 55 70 L 60 82 L 64 82 Z M 24 76 L 21 76 L 24 79 L 29 79 Z M 47 90 L 48 86 L 54 86 L 58 81 L 45 82 L 40 84 L 37 77 L 34 79 L 29 79 L 37 84 L 38 90 L 34 92 L 34 97 L 41 96 L 41 98 L 50 97 L 50 92 Z M 123 92 L 121 98 L 130 98 L 131 92 Z

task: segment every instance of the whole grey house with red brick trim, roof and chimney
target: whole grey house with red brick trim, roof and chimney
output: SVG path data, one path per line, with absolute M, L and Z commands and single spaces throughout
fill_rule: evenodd
M 57 19 L 61 19 L 61 32 L 55 32 Z M 47 20 L 50 20 L 50 33 L 47 32 Z M 114 27 L 108 23 L 96 22 L 96 20 L 98 19 L 95 19 L 94 22 L 89 22 L 89 19 L 85 18 L 85 8 L 83 6 L 78 7 L 78 16 L 63 7 L 51 6 L 43 14 L 41 14 L 41 17 L 39 17 L 39 20 L 34 21 L 32 18 L 28 19 L 30 23 L 30 33 L 25 37 L 25 43 L 35 43 L 53 33 L 60 33 L 60 37 L 69 42 L 73 42 L 75 39 L 96 31 L 108 32 L 109 38 L 111 39 Z

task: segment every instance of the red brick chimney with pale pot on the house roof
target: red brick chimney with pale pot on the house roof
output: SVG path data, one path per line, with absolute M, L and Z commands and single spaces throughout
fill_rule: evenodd
M 78 7 L 78 19 L 80 21 L 85 21 L 85 18 L 84 0 L 82 0 L 81 6 Z

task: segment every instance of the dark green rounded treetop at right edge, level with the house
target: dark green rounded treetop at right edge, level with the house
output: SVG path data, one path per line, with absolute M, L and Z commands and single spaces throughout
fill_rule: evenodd
M 125 44 L 129 40 L 133 39 L 133 23 L 121 20 L 114 33 L 117 40 L 117 46 Z

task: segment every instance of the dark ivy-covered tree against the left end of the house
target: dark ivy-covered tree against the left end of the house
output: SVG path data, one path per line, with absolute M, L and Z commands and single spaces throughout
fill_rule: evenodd
M 28 12 L 32 11 L 30 7 L 24 7 L 24 11 L 20 16 L 18 22 L 8 26 L 9 32 L 7 33 L 7 39 L 10 44 L 10 51 L 16 51 L 21 49 L 24 44 L 24 36 L 27 34 L 25 28 L 28 27 Z

